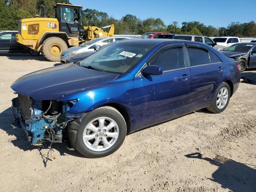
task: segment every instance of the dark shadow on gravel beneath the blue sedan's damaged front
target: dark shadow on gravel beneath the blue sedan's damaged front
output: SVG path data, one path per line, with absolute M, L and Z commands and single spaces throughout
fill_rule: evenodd
M 43 162 L 45 163 L 47 154 L 42 154 L 42 149 L 48 149 L 50 142 L 31 145 L 30 142 L 28 142 L 28 138 L 24 130 L 19 126 L 18 121 L 14 118 L 14 110 L 11 107 L 0 113 L 0 122 L 0 128 L 9 136 L 13 136 L 10 140 L 8 140 L 8 142 L 12 143 L 14 146 L 23 151 L 38 150 Z M 77 150 L 68 150 L 66 145 L 62 143 L 53 143 L 52 149 L 57 150 L 61 156 L 68 154 L 84 158 L 84 156 L 82 156 Z

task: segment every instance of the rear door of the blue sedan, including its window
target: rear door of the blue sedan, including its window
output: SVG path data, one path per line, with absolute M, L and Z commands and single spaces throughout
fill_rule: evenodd
M 190 106 L 198 110 L 212 102 L 216 88 L 225 76 L 224 64 L 206 47 L 186 44 L 190 64 Z

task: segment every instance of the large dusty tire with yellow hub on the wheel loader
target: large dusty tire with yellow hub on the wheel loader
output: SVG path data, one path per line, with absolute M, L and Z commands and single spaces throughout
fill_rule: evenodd
M 42 54 L 48 61 L 60 61 L 62 51 L 68 48 L 66 42 L 58 37 L 49 37 L 42 44 Z

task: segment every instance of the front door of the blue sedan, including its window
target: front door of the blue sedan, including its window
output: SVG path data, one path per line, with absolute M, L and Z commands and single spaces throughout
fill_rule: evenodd
M 134 77 L 135 122 L 140 128 L 185 114 L 190 91 L 183 44 L 162 48 L 146 65 L 161 66 L 163 73 Z

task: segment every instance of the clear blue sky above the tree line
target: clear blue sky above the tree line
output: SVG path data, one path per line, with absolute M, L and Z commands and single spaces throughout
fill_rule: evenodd
M 256 0 L 70 0 L 106 12 L 115 19 L 133 14 L 140 19 L 161 18 L 166 25 L 178 21 L 199 21 L 206 26 L 226 27 L 230 22 L 256 22 Z

